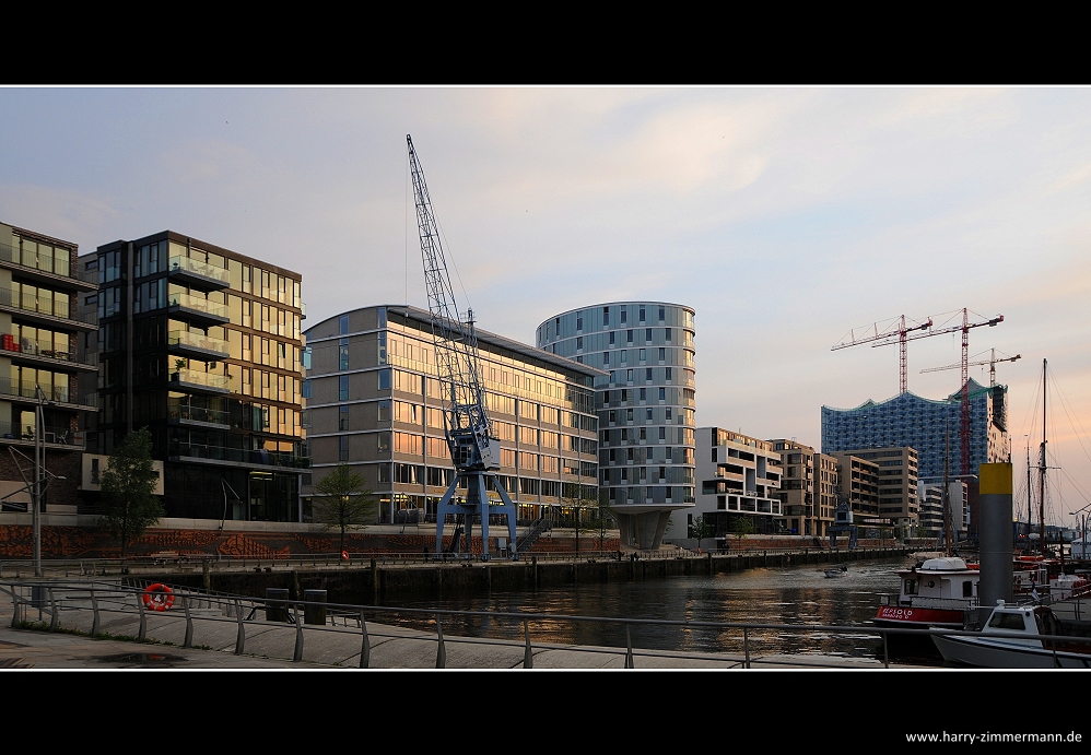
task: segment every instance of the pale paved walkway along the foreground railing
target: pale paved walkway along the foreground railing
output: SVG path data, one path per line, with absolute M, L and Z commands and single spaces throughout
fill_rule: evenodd
M 244 611 L 245 613 L 245 611 Z M 38 611 L 30 609 L 35 622 Z M 59 612 L 59 629 L 12 629 L 12 604 L 0 595 L 0 668 L 3 669 L 359 669 L 364 636 L 350 620 L 348 626 L 305 626 L 301 661 L 293 661 L 298 641 L 294 624 L 261 621 L 243 623 L 243 652 L 237 617 L 222 610 L 192 609 L 192 648 L 183 648 L 186 618 L 178 604 L 164 613 L 148 612 L 145 642 L 137 642 L 139 613 L 134 600 L 126 609 L 115 604 L 101 611 L 99 632 L 91 638 L 90 603 Z M 45 627 L 47 611 L 42 612 Z M 83 634 L 77 634 L 83 633 Z M 435 669 L 439 650 L 435 633 L 367 623 L 371 669 Z M 444 638 L 448 669 L 521 669 L 526 645 L 517 640 Z M 742 669 L 744 659 L 725 653 L 634 651 L 637 669 Z M 535 669 L 623 669 L 624 648 L 535 644 Z M 882 669 L 882 662 L 863 658 L 765 656 L 753 669 Z

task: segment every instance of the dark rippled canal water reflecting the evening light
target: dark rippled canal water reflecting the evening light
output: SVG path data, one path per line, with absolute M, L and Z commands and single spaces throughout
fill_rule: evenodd
M 829 565 L 749 569 L 715 576 L 668 577 L 632 582 L 575 585 L 538 592 L 459 595 L 443 600 L 398 599 L 391 607 L 448 609 L 485 612 L 527 612 L 555 616 L 532 622 L 535 642 L 625 645 L 622 626 L 566 621 L 562 616 L 658 618 L 683 622 L 735 622 L 866 626 L 871 624 L 881 593 L 896 593 L 894 569 L 914 558 L 847 564 L 844 577 L 829 578 Z M 389 616 L 376 621 L 390 623 Z M 397 623 L 434 630 L 431 618 L 403 615 Z M 694 626 L 633 627 L 633 646 L 658 650 L 741 652 L 741 629 Z M 503 617 L 448 616 L 444 634 L 521 639 L 521 625 Z M 882 652 L 878 634 L 826 630 L 755 629 L 750 633 L 754 653 L 823 653 L 875 658 Z

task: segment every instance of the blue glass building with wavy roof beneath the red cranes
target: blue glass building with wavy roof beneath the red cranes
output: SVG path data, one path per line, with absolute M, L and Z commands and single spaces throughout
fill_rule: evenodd
M 986 388 L 970 380 L 970 469 L 1008 459 L 1007 386 Z M 962 467 L 959 439 L 961 391 L 934 401 L 905 392 L 887 401 L 865 401 L 855 409 L 822 406 L 822 452 L 854 449 L 916 449 L 918 476 L 942 479 L 950 432 L 950 469 Z

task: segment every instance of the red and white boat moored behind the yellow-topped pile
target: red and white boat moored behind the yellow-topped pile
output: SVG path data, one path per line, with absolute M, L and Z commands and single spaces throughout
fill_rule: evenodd
M 951 556 L 929 558 L 913 568 L 899 569 L 898 575 L 902 578 L 898 601 L 892 600 L 893 595 L 880 597 L 876 626 L 961 629 L 965 612 L 977 606 L 977 582 L 981 580 L 977 564 L 966 564 L 962 558 Z M 898 637 L 890 635 L 891 640 Z M 930 641 L 923 644 L 925 648 L 930 645 Z

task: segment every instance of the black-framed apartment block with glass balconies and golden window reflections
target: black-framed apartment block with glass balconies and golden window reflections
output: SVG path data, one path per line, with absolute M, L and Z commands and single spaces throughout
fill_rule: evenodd
M 173 231 L 79 264 L 97 281 L 85 298 L 98 320 L 89 453 L 105 458 L 146 426 L 167 517 L 300 521 L 301 275 Z

